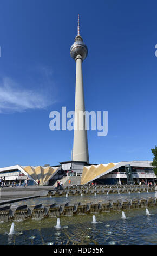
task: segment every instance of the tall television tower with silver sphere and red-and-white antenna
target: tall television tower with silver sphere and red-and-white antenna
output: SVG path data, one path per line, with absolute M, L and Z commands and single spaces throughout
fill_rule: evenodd
M 86 44 L 84 44 L 82 36 L 80 35 L 79 14 L 78 14 L 77 36 L 75 37 L 74 44 L 70 48 L 70 55 L 76 61 L 73 161 L 89 163 L 86 117 L 83 117 L 82 120 L 79 120 L 80 111 L 83 111 L 83 112 L 85 111 L 82 62 L 84 59 L 86 59 L 87 54 L 88 54 L 87 46 Z

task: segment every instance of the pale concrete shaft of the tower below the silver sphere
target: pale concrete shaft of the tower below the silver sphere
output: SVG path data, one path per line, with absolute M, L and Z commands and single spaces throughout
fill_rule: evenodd
M 75 113 L 77 119 L 74 120 L 74 144 L 73 144 L 73 160 L 89 163 L 88 141 L 86 118 L 83 118 L 83 130 L 79 130 L 79 112 L 85 111 L 84 92 L 83 92 L 83 76 L 82 76 L 82 57 L 76 57 L 76 90 L 75 90 Z

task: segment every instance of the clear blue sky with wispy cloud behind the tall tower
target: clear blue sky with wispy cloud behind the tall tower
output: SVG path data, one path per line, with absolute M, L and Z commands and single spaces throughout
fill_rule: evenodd
M 108 135 L 88 131 L 90 163 L 152 161 L 156 145 L 156 1 L 1 0 L 0 167 L 71 160 L 73 131 L 51 111 L 74 110 L 80 34 L 86 109 L 108 111 Z

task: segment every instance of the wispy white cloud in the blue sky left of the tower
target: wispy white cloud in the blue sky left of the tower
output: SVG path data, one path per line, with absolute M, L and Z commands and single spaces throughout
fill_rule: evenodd
M 49 87 L 39 86 L 39 89 L 23 89 L 10 78 L 0 82 L 0 113 L 23 112 L 27 109 L 44 109 L 55 100 Z

